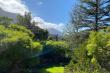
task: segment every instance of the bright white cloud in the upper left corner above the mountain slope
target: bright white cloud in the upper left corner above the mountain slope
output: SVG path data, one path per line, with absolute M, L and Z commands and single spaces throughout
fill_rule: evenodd
M 11 13 L 24 14 L 28 8 L 22 0 L 0 0 L 0 8 Z

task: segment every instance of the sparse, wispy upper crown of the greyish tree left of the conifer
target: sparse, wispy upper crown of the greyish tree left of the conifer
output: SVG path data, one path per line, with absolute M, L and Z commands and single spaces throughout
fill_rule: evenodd
M 83 24 L 83 19 L 85 15 L 82 14 L 82 9 L 80 8 L 80 4 L 76 5 L 70 14 L 70 23 L 68 30 L 71 32 L 77 33 L 80 31 L 81 28 L 85 27 L 86 25 Z

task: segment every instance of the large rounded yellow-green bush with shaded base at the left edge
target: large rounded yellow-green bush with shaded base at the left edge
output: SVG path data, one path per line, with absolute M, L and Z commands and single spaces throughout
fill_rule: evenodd
M 32 35 L 22 26 L 5 28 L 0 25 L 0 71 L 19 73 L 21 63 L 42 49 L 39 43 L 32 40 Z

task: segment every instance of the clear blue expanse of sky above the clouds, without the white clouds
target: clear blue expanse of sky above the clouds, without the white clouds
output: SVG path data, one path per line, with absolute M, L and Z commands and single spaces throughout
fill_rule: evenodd
M 77 0 L 23 0 L 33 16 L 51 23 L 67 23 Z

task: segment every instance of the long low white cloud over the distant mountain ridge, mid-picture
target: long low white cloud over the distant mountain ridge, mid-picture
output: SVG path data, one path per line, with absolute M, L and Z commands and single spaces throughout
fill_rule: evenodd
M 38 23 L 37 26 L 39 26 L 43 29 L 55 29 L 55 30 L 58 30 L 59 32 L 62 32 L 63 28 L 64 28 L 63 23 L 59 23 L 59 24 L 49 23 L 40 17 L 34 17 L 33 20 Z

